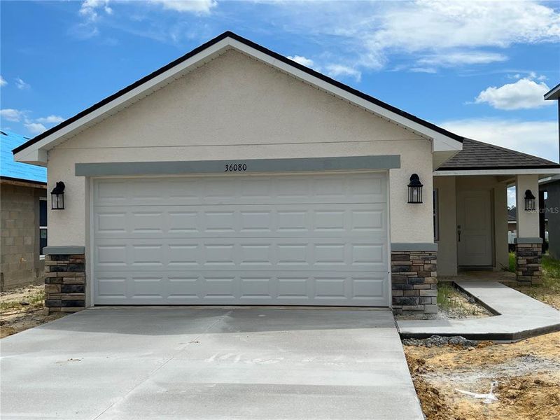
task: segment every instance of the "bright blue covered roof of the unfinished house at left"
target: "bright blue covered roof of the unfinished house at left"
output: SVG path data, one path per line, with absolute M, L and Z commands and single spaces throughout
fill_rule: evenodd
M 0 177 L 13 181 L 31 181 L 47 183 L 47 169 L 29 165 L 29 163 L 15 162 L 12 149 L 21 146 L 29 140 L 8 130 L 0 131 Z

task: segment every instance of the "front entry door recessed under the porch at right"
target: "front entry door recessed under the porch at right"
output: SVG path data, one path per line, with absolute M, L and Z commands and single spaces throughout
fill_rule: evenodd
M 492 265 L 490 190 L 457 194 L 457 258 L 460 266 Z

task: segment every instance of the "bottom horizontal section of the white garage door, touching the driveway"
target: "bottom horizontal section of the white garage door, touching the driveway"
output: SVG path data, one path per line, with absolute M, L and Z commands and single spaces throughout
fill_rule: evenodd
M 324 304 L 384 306 L 386 274 L 261 271 L 99 276 L 97 304 Z

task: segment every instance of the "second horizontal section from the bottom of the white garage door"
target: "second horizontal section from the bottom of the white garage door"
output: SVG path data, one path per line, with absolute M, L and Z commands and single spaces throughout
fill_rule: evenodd
M 192 271 L 204 269 L 364 270 L 386 272 L 388 249 L 383 238 L 223 238 L 105 239 L 95 247 L 96 271 L 142 268 Z

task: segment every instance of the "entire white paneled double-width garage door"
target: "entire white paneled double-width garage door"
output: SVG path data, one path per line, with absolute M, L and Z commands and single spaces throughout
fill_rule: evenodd
M 94 182 L 94 304 L 388 306 L 385 174 Z

